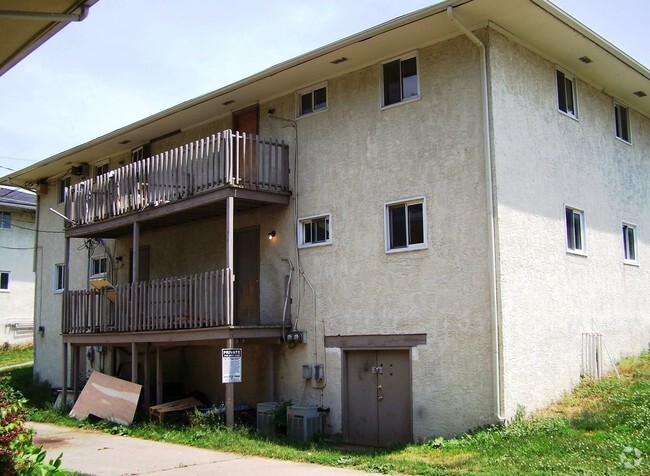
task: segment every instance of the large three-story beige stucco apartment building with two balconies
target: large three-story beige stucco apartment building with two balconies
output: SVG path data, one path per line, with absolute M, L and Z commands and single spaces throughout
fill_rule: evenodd
M 450 1 L 12 173 L 35 372 L 379 446 L 539 408 L 650 342 L 649 78 L 546 1 Z

